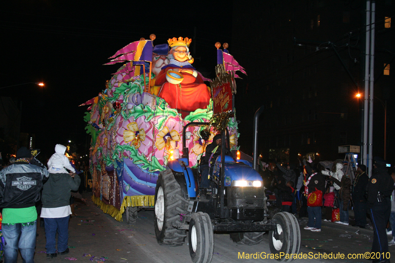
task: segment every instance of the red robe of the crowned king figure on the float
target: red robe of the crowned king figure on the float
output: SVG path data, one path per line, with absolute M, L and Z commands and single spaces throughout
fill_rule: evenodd
M 184 76 L 184 79 L 180 84 L 167 82 L 166 72 L 168 70 L 178 72 L 178 69 L 195 70 L 192 66 L 166 65 L 159 72 L 155 85 L 161 86 L 158 97 L 164 99 L 172 109 L 177 109 L 181 116 L 185 118 L 190 112 L 197 109 L 206 109 L 211 94 L 200 75 L 194 77 L 192 74 L 181 72 L 180 74 Z

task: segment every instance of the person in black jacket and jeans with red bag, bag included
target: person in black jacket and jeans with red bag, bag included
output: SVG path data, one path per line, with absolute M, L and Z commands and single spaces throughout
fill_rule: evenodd
M 321 231 L 321 206 L 322 206 L 322 194 L 325 192 L 325 179 L 321 171 L 325 168 L 319 163 L 314 164 L 312 168 L 312 176 L 306 187 L 309 189 L 309 195 L 307 197 L 307 212 L 309 214 L 309 221 L 306 230 L 313 232 Z

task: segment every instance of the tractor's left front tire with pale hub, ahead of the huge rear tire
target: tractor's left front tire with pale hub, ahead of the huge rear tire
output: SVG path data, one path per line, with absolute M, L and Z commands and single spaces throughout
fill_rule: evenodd
M 210 216 L 203 212 L 192 215 L 189 223 L 189 254 L 194 263 L 210 263 L 214 253 L 214 232 Z

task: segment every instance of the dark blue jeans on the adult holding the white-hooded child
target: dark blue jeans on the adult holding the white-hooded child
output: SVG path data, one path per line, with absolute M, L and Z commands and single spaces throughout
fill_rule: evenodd
M 69 219 L 70 216 L 62 218 L 44 218 L 46 254 L 56 252 L 56 231 L 58 232 L 58 252 L 64 252 L 69 242 Z

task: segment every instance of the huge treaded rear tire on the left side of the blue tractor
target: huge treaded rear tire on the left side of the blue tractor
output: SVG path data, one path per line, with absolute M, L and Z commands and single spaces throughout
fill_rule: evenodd
M 182 246 L 186 230 L 181 225 L 180 214 L 187 211 L 188 201 L 184 199 L 180 185 L 170 169 L 160 172 L 155 189 L 155 235 L 159 245 Z

